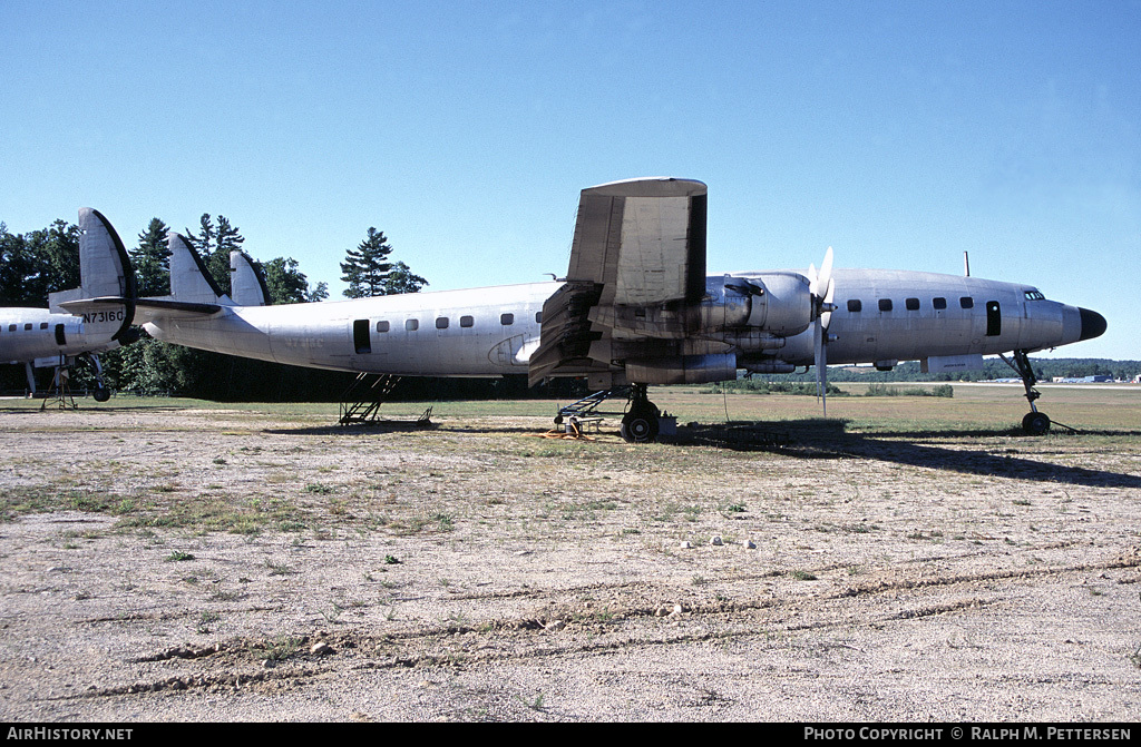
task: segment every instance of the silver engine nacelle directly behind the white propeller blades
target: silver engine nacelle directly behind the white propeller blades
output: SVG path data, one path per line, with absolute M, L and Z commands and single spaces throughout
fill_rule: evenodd
M 750 327 L 788 336 L 812 323 L 808 278 L 796 273 L 767 273 L 705 278 L 702 328 L 706 332 Z

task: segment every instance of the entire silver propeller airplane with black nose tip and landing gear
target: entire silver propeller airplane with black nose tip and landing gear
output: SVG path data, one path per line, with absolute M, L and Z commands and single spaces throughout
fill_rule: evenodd
M 925 370 L 1008 363 L 1026 387 L 1022 425 L 1044 433 L 1027 354 L 1089 340 L 1098 312 L 1046 300 L 1036 287 L 901 270 L 706 275 L 704 184 L 649 178 L 582 192 L 567 276 L 560 281 L 338 302 L 264 306 L 249 259 L 230 257 L 224 297 L 172 234 L 171 295 L 139 299 L 153 336 L 192 348 L 338 371 L 422 376 L 526 372 L 630 388 L 628 440 L 653 440 L 652 384 L 733 380 L 738 370 L 791 373 L 921 360 Z M 1004 356 L 1005 357 L 1005 356 Z M 826 405 L 825 405 L 826 406 Z

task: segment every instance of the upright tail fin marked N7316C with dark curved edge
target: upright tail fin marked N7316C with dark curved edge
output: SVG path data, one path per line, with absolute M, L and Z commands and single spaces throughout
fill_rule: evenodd
M 135 270 L 123 242 L 98 210 L 79 211 L 80 286 L 48 295 L 54 314 L 83 317 L 84 333 L 107 341 L 131 342 L 135 318 Z

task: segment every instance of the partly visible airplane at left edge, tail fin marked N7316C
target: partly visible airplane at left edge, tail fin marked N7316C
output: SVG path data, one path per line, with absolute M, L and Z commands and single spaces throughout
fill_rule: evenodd
M 55 367 L 58 383 L 76 357 L 89 357 L 98 382 L 94 397 L 107 401 L 98 354 L 138 338 L 131 328 L 135 273 L 119 234 L 99 211 L 81 208 L 79 228 L 80 286 L 49 294 L 47 309 L 0 309 L 0 362 L 23 363 L 34 395 L 33 366 Z

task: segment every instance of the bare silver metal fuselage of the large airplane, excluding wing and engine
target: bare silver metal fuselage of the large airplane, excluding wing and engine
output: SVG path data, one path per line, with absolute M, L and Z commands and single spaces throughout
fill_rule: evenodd
M 837 309 L 828 326 L 834 338 L 830 364 L 1033 351 L 1085 339 L 1079 309 L 1042 299 L 1023 284 L 869 269 L 836 269 L 834 277 Z M 211 316 L 156 319 L 145 327 L 160 340 L 297 366 L 422 376 L 525 374 L 540 340 L 539 314 L 560 285 L 233 306 Z M 860 310 L 851 310 L 849 301 L 859 301 Z M 890 301 L 890 310 L 881 301 Z M 727 339 L 739 335 L 722 334 L 711 342 Z M 760 351 L 733 351 L 807 366 L 814 362 L 812 332 L 776 344 L 769 340 Z

